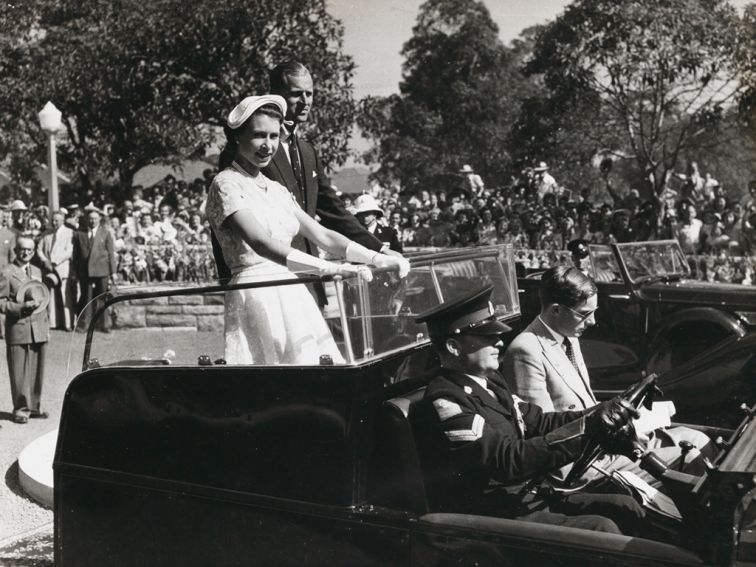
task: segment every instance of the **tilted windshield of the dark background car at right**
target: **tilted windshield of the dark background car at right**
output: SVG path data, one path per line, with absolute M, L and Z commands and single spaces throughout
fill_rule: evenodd
M 690 267 L 676 240 L 617 244 L 633 283 L 648 279 L 680 279 L 690 275 Z

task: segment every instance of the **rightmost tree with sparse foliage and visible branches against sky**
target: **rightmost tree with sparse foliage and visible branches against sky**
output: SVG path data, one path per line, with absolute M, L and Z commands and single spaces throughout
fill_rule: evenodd
M 523 145 L 632 159 L 646 195 L 700 151 L 746 88 L 742 23 L 724 0 L 577 0 L 539 34 L 526 67 L 548 95 L 523 116 Z M 532 144 L 531 144 L 532 145 Z M 564 159 L 564 156 L 562 156 Z

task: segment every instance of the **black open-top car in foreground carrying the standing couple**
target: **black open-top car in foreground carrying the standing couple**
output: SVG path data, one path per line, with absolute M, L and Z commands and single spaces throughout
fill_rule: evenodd
M 437 361 L 414 317 L 490 284 L 514 323 L 511 247 L 417 256 L 406 280 L 301 281 L 325 285 L 343 362 L 225 364 L 228 288 L 99 305 L 61 415 L 56 565 L 756 563 L 750 414 L 703 428 L 724 441 L 702 476 L 663 471 L 682 515 L 664 541 L 438 511 L 413 428 Z

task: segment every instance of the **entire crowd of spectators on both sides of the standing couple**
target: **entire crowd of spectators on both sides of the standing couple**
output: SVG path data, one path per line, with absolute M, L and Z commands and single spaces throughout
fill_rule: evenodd
M 119 283 L 211 282 L 216 276 L 204 201 L 212 181 L 208 169 L 191 182 L 167 176 L 152 187 L 136 186 L 128 198 L 98 184 L 87 202 L 63 212 L 74 230 L 87 208 L 103 213 L 118 255 Z M 756 184 L 735 198 L 695 164 L 670 177 L 661 196 L 643 200 L 637 190 L 594 202 L 561 186 L 540 162 L 505 186 L 487 187 L 469 165 L 450 190 L 405 195 L 377 189 L 373 196 L 405 250 L 414 247 L 512 243 L 523 262 L 549 264 L 554 252 L 582 239 L 609 244 L 676 238 L 697 269 L 716 281 L 750 283 L 756 263 Z M 347 206 L 351 197 L 342 195 Z M 47 207 L 5 206 L 0 224 L 39 238 L 47 229 Z M 700 268 L 700 269 L 699 269 Z

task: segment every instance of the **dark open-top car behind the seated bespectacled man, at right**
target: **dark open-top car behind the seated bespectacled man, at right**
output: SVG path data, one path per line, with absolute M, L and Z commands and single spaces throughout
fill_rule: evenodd
M 594 389 L 615 394 L 656 373 L 679 418 L 736 425 L 733 408 L 756 401 L 756 287 L 692 278 L 676 240 L 588 249 L 599 310 L 581 344 Z M 525 325 L 540 309 L 539 276 L 518 279 Z

